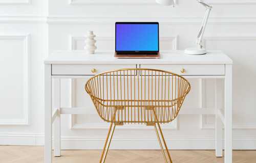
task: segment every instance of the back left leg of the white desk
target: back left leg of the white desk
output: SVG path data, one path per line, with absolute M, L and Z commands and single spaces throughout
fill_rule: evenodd
M 54 110 L 57 116 L 54 121 L 54 156 L 60 156 L 60 79 L 54 79 Z

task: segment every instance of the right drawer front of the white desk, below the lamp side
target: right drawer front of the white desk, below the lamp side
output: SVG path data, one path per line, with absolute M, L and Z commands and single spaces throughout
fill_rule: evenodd
M 165 70 L 179 75 L 225 75 L 225 65 L 140 65 L 140 68 Z M 181 73 L 181 69 L 185 72 Z

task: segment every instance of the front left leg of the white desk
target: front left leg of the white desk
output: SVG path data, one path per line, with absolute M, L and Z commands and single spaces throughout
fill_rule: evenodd
M 45 163 L 52 162 L 52 74 L 45 65 Z

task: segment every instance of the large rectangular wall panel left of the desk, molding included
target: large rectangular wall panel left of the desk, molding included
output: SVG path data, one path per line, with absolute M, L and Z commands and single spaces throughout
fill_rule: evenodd
M 0 125 L 29 125 L 29 35 L 0 35 L 0 44 Z

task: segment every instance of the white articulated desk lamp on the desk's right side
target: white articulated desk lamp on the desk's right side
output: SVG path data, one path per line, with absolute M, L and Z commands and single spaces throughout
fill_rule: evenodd
M 160 5 L 166 5 L 166 6 L 174 5 L 176 3 L 176 0 L 155 0 L 155 1 Z M 212 5 L 204 3 L 203 0 L 197 0 L 197 2 L 206 8 L 206 13 L 201 25 L 200 32 L 197 36 L 196 44 L 198 45 L 198 47 L 186 48 L 184 52 L 188 55 L 204 55 L 206 53 L 206 49 L 203 48 L 202 38 L 204 35 L 205 26 L 206 26 Z

